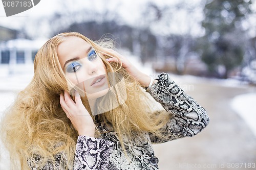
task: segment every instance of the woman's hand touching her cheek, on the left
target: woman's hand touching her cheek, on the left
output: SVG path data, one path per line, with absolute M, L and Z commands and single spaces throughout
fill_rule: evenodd
M 64 94 L 60 94 L 59 103 L 79 135 L 94 137 L 95 125 L 93 119 L 83 106 L 77 91 L 75 91 L 75 102 L 71 99 L 70 94 L 65 91 Z

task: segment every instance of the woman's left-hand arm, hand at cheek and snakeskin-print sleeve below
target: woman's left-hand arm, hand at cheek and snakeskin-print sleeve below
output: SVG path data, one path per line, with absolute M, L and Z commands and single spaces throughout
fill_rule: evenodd
M 72 125 L 78 131 L 74 169 L 106 169 L 113 143 L 94 138 L 95 125 L 87 109 L 83 106 L 80 95 L 75 92 L 75 102 L 65 91 L 60 95 L 60 104 Z

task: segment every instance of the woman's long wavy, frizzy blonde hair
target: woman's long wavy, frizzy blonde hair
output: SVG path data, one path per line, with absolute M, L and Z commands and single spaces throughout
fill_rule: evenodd
M 73 166 L 78 133 L 59 104 L 60 93 L 68 90 L 68 83 L 57 56 L 57 46 L 69 36 L 87 41 L 102 59 L 106 70 L 118 72 L 124 78 L 124 81 L 112 90 L 125 90 L 125 102 L 117 108 L 93 116 L 94 119 L 97 117 L 100 122 L 112 124 L 123 149 L 123 135 L 132 137 L 134 131 L 148 131 L 161 136 L 160 128 L 165 124 L 166 115 L 149 114 L 148 112 L 152 111 L 148 105 L 150 99 L 140 84 L 122 68 L 122 63 L 110 64 L 106 61 L 106 58 L 118 58 L 106 49 L 113 47 L 112 41 L 94 42 L 76 32 L 61 33 L 49 39 L 38 50 L 32 81 L 19 92 L 2 120 L 2 140 L 10 152 L 14 166 L 29 169 L 28 160 L 35 154 L 40 155 L 46 162 L 54 160 L 53 155 L 58 153 L 66 155 L 61 159 L 68 162 L 67 168 Z M 82 101 L 91 114 L 86 97 L 82 97 Z M 96 134 L 99 136 L 99 133 Z

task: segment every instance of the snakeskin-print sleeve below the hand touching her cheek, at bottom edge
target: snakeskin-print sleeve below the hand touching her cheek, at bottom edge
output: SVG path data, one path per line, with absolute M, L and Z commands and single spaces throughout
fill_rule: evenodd
M 74 169 L 107 169 L 113 145 L 108 140 L 78 136 Z

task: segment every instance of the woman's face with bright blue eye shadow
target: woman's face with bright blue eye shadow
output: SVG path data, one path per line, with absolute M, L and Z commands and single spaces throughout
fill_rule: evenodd
M 108 92 L 106 67 L 88 42 L 75 36 L 66 37 L 58 45 L 57 55 L 67 79 L 86 91 L 88 99 L 99 98 Z

